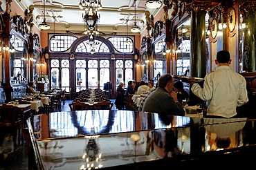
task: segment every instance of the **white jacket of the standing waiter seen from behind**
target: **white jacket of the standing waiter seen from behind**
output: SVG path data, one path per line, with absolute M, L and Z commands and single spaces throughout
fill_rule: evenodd
M 208 101 L 208 114 L 232 117 L 237 114 L 237 106 L 248 102 L 246 79 L 235 73 L 229 66 L 219 66 L 205 76 L 203 88 L 193 84 L 192 92 Z

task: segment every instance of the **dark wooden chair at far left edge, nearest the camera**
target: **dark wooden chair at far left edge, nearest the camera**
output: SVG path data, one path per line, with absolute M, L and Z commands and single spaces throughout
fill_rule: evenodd
M 13 144 L 17 146 L 17 133 L 18 142 L 20 142 L 21 134 L 21 117 L 18 116 L 18 107 L 9 106 L 7 104 L 2 104 L 0 106 L 0 127 L 10 128 L 12 131 Z M 3 130 L 2 130 L 3 131 Z

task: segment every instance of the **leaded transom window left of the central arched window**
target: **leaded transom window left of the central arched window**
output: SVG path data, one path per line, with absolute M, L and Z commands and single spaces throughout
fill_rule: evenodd
M 50 49 L 54 52 L 62 52 L 68 50 L 77 37 L 71 35 L 55 35 L 50 39 Z

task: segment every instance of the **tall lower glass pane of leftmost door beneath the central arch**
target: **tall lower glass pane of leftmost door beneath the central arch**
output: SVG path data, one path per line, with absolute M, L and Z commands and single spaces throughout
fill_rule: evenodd
M 86 70 L 85 68 L 77 68 L 76 72 L 76 91 L 86 89 Z

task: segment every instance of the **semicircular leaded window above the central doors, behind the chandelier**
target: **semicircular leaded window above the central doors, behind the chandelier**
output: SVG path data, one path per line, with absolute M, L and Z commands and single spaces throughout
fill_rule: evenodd
M 104 42 L 95 40 L 95 44 L 97 45 L 91 46 L 89 45 L 89 40 L 82 41 L 78 44 L 75 52 L 90 53 L 91 50 L 94 50 L 95 53 L 110 53 L 109 47 Z

